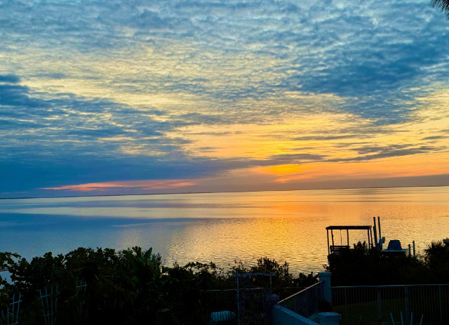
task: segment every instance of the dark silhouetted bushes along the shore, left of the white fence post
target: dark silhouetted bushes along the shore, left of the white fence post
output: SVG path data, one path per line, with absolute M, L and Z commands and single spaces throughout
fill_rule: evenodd
M 80 247 L 65 256 L 49 252 L 31 262 L 18 254 L 0 253 L 0 267 L 11 276 L 11 281 L 0 278 L 0 308 L 6 309 L 13 293 L 22 293 L 19 317 L 24 325 L 43 322 L 39 290 L 51 286 L 58 286 L 59 291 L 57 324 L 162 325 L 208 324 L 211 296 L 205 293 L 236 288 L 236 273 L 276 274 L 274 288 L 317 281 L 313 274 L 294 277 L 288 263 L 266 257 L 250 267 L 236 263 L 228 272 L 214 263 L 165 267 L 152 248 L 140 247 L 123 251 Z M 79 281 L 87 284 L 86 291 L 76 289 Z M 267 277 L 251 281 L 254 286 L 269 286 Z

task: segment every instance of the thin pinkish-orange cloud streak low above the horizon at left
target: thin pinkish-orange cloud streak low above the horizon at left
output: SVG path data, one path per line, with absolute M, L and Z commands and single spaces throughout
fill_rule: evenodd
M 66 185 L 61 187 L 43 187 L 43 190 L 71 190 L 79 192 L 104 191 L 119 188 L 140 188 L 142 190 L 156 190 L 178 188 L 196 185 L 191 180 L 124 180 L 120 182 L 87 183 Z

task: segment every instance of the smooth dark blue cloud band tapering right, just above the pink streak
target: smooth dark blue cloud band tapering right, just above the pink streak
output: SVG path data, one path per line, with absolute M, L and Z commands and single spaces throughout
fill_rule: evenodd
M 15 161 L 0 161 L 2 192 L 90 183 L 126 183 L 142 179 L 189 179 L 194 182 L 195 178 L 214 175 L 227 167 L 225 162 L 192 159 L 181 153 L 159 157 L 77 152 L 48 158 L 36 151 L 36 154 L 24 153 L 20 159 L 14 158 Z M 232 168 L 232 164 L 228 166 Z

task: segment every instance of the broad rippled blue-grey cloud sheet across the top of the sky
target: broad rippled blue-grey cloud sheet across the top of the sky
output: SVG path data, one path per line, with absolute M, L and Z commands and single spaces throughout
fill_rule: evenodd
M 40 46 L 51 40 L 64 51 L 114 48 L 103 55 L 123 49 L 131 56 L 130 43 L 152 44 L 153 54 L 173 58 L 180 67 L 152 76 L 152 86 L 231 102 L 267 98 L 282 89 L 333 93 L 347 98 L 340 109 L 391 124 L 413 114 L 408 102 L 422 91 L 411 88 L 446 80 L 434 67 L 447 68 L 448 26 L 426 1 L 390 0 L 382 8 L 375 1 L 86 1 L 11 3 L 5 10 L 3 29 L 16 35 L 6 43 L 30 39 Z M 189 67 L 196 75 L 184 74 Z M 198 73 L 201 69 L 220 74 Z M 135 86 L 145 88 L 145 77 Z

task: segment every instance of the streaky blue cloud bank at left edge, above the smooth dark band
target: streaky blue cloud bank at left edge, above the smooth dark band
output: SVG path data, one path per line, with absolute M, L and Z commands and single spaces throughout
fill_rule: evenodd
M 27 152 L 41 157 L 109 155 L 129 146 L 166 154 L 185 143 L 164 137 L 174 126 L 152 117 L 164 114 L 161 110 L 135 110 L 67 93 L 36 93 L 18 84 L 0 84 L 0 105 L 0 152 L 6 159 L 17 160 Z

